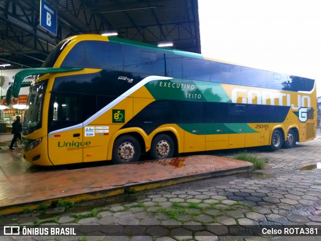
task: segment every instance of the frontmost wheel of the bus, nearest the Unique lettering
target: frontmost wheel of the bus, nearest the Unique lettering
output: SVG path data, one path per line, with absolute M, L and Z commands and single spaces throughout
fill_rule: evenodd
M 140 144 L 135 137 L 130 135 L 120 136 L 114 142 L 112 161 L 115 164 L 138 161 L 140 149 Z

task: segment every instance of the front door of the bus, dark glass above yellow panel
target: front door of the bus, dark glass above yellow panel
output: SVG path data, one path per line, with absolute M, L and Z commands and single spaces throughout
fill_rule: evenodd
M 83 162 L 81 95 L 52 93 L 48 113 L 48 155 L 54 165 Z

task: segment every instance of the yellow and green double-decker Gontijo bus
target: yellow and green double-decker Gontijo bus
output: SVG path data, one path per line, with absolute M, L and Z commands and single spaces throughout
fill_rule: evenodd
M 270 146 L 316 135 L 315 81 L 101 35 L 63 40 L 30 86 L 27 161 L 61 165 L 138 161 Z M 9 97 L 11 98 L 11 93 Z

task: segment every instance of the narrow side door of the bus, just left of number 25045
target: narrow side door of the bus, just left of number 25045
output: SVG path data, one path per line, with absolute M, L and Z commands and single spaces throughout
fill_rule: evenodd
M 245 123 L 250 106 L 229 105 L 229 148 L 242 148 L 245 145 Z

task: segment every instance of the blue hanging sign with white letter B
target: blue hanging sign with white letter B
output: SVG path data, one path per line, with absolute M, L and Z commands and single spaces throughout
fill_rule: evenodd
M 57 10 L 44 0 L 40 0 L 40 26 L 57 35 Z

